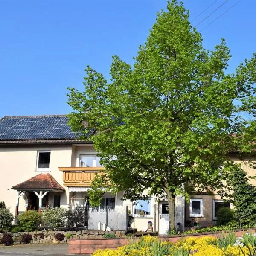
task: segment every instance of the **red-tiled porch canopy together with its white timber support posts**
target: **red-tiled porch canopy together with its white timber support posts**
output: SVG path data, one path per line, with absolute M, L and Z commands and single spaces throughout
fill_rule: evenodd
M 41 212 L 42 199 L 48 192 L 63 192 L 65 189 L 49 173 L 41 173 L 11 189 L 17 190 L 16 215 L 18 215 L 19 199 L 24 192 L 34 192 L 39 199 L 38 211 Z

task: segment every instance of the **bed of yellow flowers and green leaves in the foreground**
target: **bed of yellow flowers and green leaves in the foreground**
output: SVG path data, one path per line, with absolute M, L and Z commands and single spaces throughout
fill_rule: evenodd
M 237 237 L 235 233 L 220 236 L 189 237 L 176 243 L 144 236 L 117 250 L 96 250 L 92 256 L 255 256 L 256 236 L 253 233 Z

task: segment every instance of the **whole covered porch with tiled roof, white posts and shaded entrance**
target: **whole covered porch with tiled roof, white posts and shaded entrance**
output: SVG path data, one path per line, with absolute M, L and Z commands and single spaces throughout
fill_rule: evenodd
M 19 203 L 21 196 L 25 201 L 25 211 L 35 210 L 41 212 L 48 207 L 59 207 L 60 193 L 64 188 L 49 173 L 41 173 L 20 184 L 13 186 L 11 189 L 17 190 L 15 219 L 19 214 Z M 49 201 L 52 198 L 52 201 Z M 24 207 L 22 207 L 24 210 Z

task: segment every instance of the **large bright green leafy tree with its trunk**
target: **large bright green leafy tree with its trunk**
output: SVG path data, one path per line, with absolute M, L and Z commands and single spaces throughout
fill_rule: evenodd
M 250 152 L 256 131 L 256 55 L 234 74 L 224 72 L 229 59 L 224 39 L 204 49 L 189 12 L 172 1 L 157 13 L 133 67 L 113 56 L 110 81 L 87 67 L 84 92 L 69 88 L 68 104 L 70 125 L 106 168 L 94 201 L 104 186 L 132 201 L 148 189 L 148 197 L 167 198 L 172 230 L 176 195 L 223 188 L 230 149 Z

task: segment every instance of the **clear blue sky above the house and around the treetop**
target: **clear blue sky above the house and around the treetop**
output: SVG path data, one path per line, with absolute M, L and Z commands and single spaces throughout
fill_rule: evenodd
M 198 24 L 221 1 L 184 1 Z M 229 0 L 198 25 L 200 31 L 237 1 Z M 0 1 L 0 117 L 69 113 L 67 87 L 83 90 L 89 64 L 107 78 L 111 56 L 132 64 L 166 1 Z M 204 47 L 225 38 L 228 72 L 256 52 L 256 1 L 241 0 L 202 31 Z

